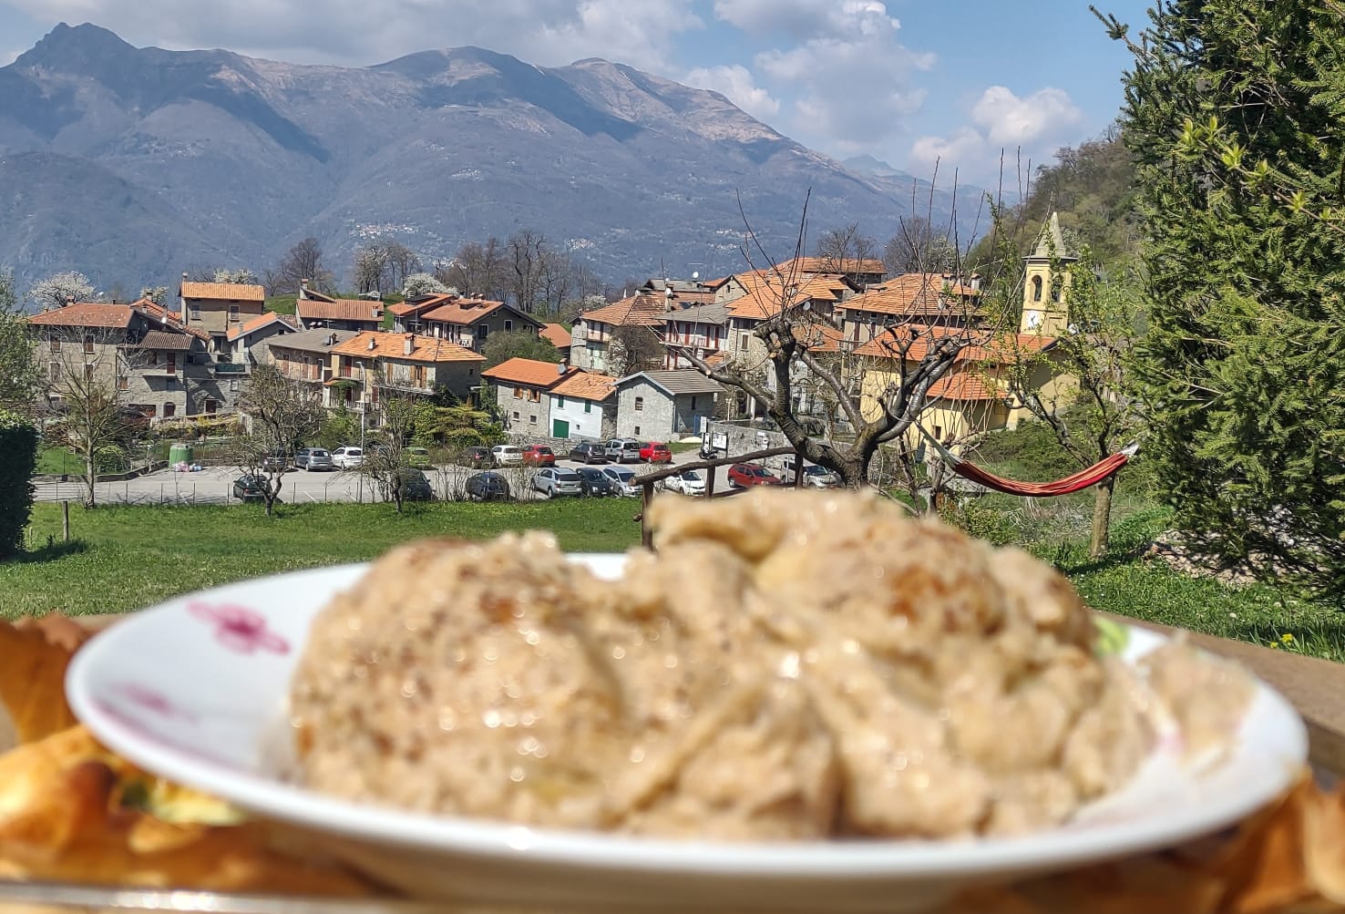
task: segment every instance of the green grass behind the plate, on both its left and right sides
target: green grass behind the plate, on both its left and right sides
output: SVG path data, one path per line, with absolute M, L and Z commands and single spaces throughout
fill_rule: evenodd
M 59 507 L 39 504 L 34 552 L 0 565 L 0 616 L 120 613 L 239 578 L 369 559 L 417 536 L 545 528 L 565 550 L 621 551 L 639 542 L 638 511 L 628 499 L 410 505 L 401 517 L 387 505 L 355 504 L 282 505 L 270 519 L 256 505 L 74 508 L 75 542 L 66 546 Z M 1087 556 L 1085 539 L 1042 536 L 1028 547 L 1098 609 L 1345 661 L 1345 614 L 1264 585 L 1189 578 L 1143 558 L 1166 520 L 1162 509 L 1122 512 L 1102 560 Z

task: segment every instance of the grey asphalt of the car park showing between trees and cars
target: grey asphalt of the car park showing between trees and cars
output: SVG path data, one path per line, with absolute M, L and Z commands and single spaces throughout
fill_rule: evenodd
M 674 454 L 672 462 L 686 464 L 699 460 L 694 450 Z M 570 469 L 580 466 L 569 460 L 558 460 L 557 466 Z M 592 464 L 603 466 L 603 464 Z M 636 473 L 660 469 L 662 466 L 648 466 L 647 464 L 623 464 Z M 465 466 L 443 466 L 425 470 L 436 497 L 443 499 L 445 492 L 460 493 L 461 485 L 473 472 Z M 531 489 L 533 468 L 506 468 L 502 470 L 510 480 L 510 487 L 523 499 L 546 497 Z M 100 504 L 237 504 L 233 497 L 233 481 L 239 476 L 238 469 L 229 466 L 208 466 L 198 473 L 176 473 L 163 469 L 139 476 L 121 483 L 98 483 L 94 497 Z M 35 497 L 38 501 L 83 501 L 85 487 L 82 483 L 36 483 Z M 728 488 L 728 468 L 721 466 L 714 488 L 721 492 Z M 316 472 L 291 470 L 285 473 L 281 483 L 280 497 L 285 503 L 309 501 L 377 501 L 377 493 L 371 491 L 370 481 L 355 472 Z

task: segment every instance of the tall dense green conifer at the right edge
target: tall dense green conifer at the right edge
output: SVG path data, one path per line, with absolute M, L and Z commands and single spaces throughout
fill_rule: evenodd
M 1147 454 L 1212 554 L 1345 601 L 1345 8 L 1159 0 L 1134 54 Z

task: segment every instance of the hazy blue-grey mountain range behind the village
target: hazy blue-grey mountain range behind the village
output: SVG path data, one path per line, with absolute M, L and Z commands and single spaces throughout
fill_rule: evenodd
M 0 67 L 0 266 L 20 288 L 66 269 L 126 289 L 204 265 L 260 272 L 309 235 L 343 276 L 375 238 L 429 262 L 521 229 L 609 278 L 718 276 L 745 269 L 744 214 L 791 257 L 810 190 L 810 245 L 849 223 L 881 242 L 912 196 L 947 224 L 952 202 L 603 59 L 459 47 L 300 66 L 62 23 Z M 979 195 L 958 191 L 964 238 Z

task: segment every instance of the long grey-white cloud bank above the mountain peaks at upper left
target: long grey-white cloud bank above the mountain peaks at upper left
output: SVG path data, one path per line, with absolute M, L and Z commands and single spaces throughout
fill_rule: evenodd
M 227 47 L 363 66 L 477 44 L 554 66 L 585 56 L 670 71 L 670 40 L 703 23 L 693 0 L 8 0 L 43 20 L 94 22 L 133 44 Z

